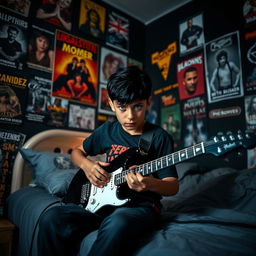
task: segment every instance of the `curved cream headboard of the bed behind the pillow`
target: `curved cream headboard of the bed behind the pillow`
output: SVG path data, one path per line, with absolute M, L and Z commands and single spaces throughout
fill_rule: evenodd
M 23 148 L 31 148 L 38 151 L 69 153 L 71 149 L 80 146 L 88 132 L 51 129 L 40 132 L 26 141 Z M 11 193 L 29 184 L 31 174 L 20 153 L 17 154 L 12 174 Z

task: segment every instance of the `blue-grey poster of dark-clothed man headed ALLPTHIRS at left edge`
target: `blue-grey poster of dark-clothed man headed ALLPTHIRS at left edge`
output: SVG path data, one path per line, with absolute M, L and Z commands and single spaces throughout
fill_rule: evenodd
M 0 66 L 24 69 L 28 22 L 0 10 Z

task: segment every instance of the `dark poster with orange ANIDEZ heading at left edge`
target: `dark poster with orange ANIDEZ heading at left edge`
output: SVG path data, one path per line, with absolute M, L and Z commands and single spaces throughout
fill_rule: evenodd
M 0 73 L 0 123 L 20 125 L 24 119 L 28 79 Z

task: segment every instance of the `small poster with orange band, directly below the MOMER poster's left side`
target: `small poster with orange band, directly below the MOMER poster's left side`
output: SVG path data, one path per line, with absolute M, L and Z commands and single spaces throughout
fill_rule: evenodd
M 68 100 L 51 97 L 47 104 L 47 125 L 55 127 L 67 126 Z

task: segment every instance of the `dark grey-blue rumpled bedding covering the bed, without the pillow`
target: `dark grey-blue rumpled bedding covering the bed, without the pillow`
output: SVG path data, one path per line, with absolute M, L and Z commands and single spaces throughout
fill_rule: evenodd
M 134 255 L 255 256 L 256 169 L 200 170 L 184 163 L 178 173 L 179 193 L 162 200 L 161 226 L 138 241 Z M 39 215 L 57 200 L 38 187 L 20 189 L 9 197 L 8 217 L 19 232 L 17 255 L 28 255 Z M 79 256 L 87 255 L 96 234 L 83 240 Z M 32 255 L 35 247 L 34 243 Z

